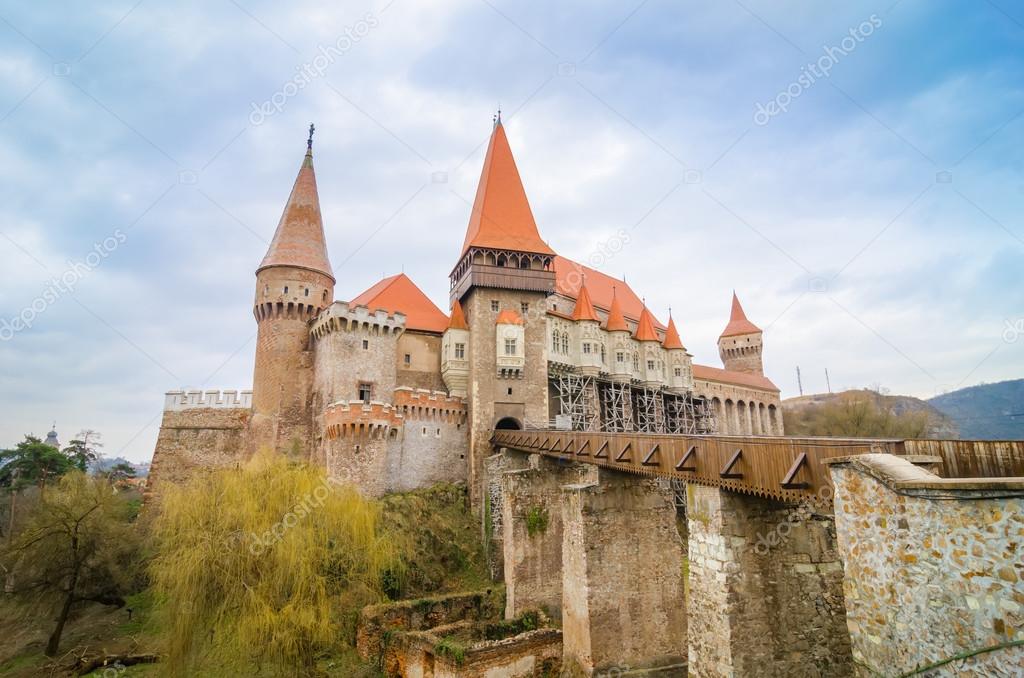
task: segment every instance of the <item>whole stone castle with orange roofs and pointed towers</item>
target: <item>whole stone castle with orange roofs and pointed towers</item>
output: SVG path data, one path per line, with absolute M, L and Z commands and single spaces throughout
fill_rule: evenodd
M 723 367 L 693 364 L 671 313 L 541 238 L 500 117 L 450 280 L 449 313 L 404 273 L 335 299 L 310 132 L 256 269 L 252 391 L 167 393 L 154 477 L 270 448 L 370 495 L 465 481 L 479 497 L 495 428 L 782 434 L 735 294 Z

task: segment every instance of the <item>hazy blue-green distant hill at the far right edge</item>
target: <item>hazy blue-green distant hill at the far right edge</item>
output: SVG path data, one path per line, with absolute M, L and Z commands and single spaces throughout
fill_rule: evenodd
M 962 388 L 928 404 L 956 422 L 965 438 L 1024 439 L 1024 379 Z

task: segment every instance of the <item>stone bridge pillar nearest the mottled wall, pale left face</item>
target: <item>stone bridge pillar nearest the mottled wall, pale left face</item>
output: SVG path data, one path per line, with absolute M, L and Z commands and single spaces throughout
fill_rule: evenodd
M 694 484 L 686 512 L 691 675 L 851 674 L 830 516 Z

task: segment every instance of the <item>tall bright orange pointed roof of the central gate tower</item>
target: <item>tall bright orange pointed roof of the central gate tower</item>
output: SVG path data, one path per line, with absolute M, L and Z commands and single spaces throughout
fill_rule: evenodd
M 534 212 L 529 209 L 526 192 L 500 120 L 495 124 L 487 155 L 483 159 L 483 171 L 466 228 L 466 241 L 462 246 L 463 254 L 470 247 L 555 253 L 541 240 L 537 230 Z

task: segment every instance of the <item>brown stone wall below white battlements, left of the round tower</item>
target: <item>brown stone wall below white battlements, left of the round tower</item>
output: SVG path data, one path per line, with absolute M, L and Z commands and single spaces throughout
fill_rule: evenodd
M 245 449 L 248 408 L 166 410 L 146 480 L 146 498 L 160 485 L 184 483 L 219 468 L 233 468 L 248 457 Z

